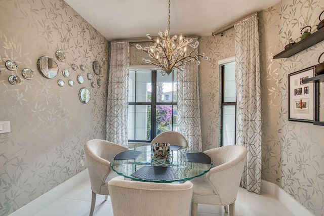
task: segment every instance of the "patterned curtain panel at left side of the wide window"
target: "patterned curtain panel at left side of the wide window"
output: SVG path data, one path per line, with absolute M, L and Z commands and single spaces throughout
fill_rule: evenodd
M 108 79 L 107 140 L 128 147 L 128 81 L 130 46 L 112 42 Z

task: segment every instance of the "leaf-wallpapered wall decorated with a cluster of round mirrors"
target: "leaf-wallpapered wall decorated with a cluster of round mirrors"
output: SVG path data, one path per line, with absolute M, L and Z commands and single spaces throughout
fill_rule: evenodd
M 0 134 L 0 215 L 8 215 L 85 169 L 80 167 L 84 143 L 106 137 L 108 41 L 62 0 L 2 0 L 0 20 L 0 121 L 11 121 L 11 133 Z M 57 50 L 66 60 L 56 61 L 57 77 L 44 78 L 37 59 L 56 60 Z M 6 69 L 7 60 L 16 61 L 18 70 Z M 102 65 L 100 75 L 92 71 L 94 60 Z M 35 72 L 33 79 L 22 77 L 24 68 Z M 71 72 L 69 78 L 63 69 Z M 9 83 L 11 74 L 21 77 L 19 85 Z M 83 84 L 77 83 L 78 74 Z M 102 86 L 92 88 L 98 78 Z M 88 104 L 79 101 L 80 88 L 90 90 Z

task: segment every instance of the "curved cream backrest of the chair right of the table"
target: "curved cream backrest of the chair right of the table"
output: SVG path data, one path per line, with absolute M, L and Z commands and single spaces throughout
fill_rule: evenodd
M 205 151 L 213 160 L 213 167 L 206 177 L 222 205 L 236 200 L 244 165 L 247 160 L 247 149 L 241 145 L 223 146 Z

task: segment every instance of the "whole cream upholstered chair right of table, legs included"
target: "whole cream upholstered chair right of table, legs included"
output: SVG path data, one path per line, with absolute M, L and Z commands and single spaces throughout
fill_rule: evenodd
M 235 200 L 247 160 L 247 149 L 241 145 L 223 146 L 205 151 L 213 160 L 206 175 L 191 180 L 193 184 L 191 216 L 197 215 L 198 203 L 222 205 L 235 215 Z

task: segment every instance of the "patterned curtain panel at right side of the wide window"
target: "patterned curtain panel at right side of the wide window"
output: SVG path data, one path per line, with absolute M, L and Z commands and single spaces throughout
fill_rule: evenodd
M 193 38 L 195 41 L 197 38 Z M 178 132 L 186 137 L 190 147 L 201 151 L 198 65 L 187 63 L 185 70 L 177 70 L 177 74 Z

